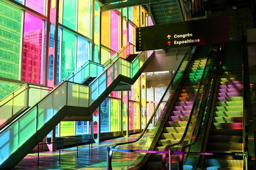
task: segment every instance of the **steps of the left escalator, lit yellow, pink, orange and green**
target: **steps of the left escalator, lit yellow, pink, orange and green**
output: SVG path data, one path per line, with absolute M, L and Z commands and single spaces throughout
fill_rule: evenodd
M 175 102 L 173 111 L 168 117 L 161 138 L 158 144 L 156 145 L 156 150 L 164 151 L 166 145 L 177 143 L 182 138 L 183 133 L 186 129 L 187 120 L 189 118 L 191 109 L 195 101 L 195 97 L 198 90 L 198 84 L 202 78 L 204 67 L 206 65 L 209 49 L 210 46 L 199 47 L 193 65 L 188 72 L 188 76 L 185 79 L 185 83 L 183 84 L 182 90 L 179 93 L 179 97 Z M 207 69 L 208 68 L 206 68 L 206 71 Z M 193 115 L 191 121 L 194 122 L 195 118 L 195 115 Z M 192 124 L 189 125 L 187 133 L 190 134 L 191 130 Z M 182 144 L 186 144 L 188 140 L 189 137 L 186 137 Z M 180 149 L 180 144 L 175 145 L 175 147 L 172 147 L 173 151 L 179 151 Z M 152 157 L 152 161 L 148 163 L 149 169 L 161 169 L 161 166 L 162 154 L 154 154 Z

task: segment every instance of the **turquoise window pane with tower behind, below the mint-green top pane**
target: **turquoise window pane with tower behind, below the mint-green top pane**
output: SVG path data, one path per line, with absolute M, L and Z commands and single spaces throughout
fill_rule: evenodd
M 61 80 L 75 69 L 75 35 L 62 31 Z

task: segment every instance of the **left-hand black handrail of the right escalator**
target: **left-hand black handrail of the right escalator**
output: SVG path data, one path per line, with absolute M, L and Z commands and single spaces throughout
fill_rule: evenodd
M 220 57 L 219 57 L 219 47 L 217 48 L 218 49 L 218 51 L 217 51 L 217 53 L 215 54 L 216 56 L 214 57 L 214 58 L 216 58 L 217 59 L 217 61 L 216 61 L 216 64 L 215 65 L 217 65 L 216 66 L 216 70 L 218 70 L 219 68 L 220 68 Z M 214 65 L 214 67 L 215 67 L 215 65 Z M 213 67 L 213 68 L 214 68 Z M 210 79 L 209 80 L 211 80 L 212 78 L 214 77 L 214 79 L 212 80 L 212 82 L 214 83 L 213 85 L 212 85 L 212 89 L 214 89 L 214 87 L 216 86 L 216 85 L 218 85 L 218 84 L 216 84 L 216 79 L 217 79 L 217 71 L 215 71 L 215 69 L 212 69 L 212 72 L 211 72 L 211 75 L 210 75 Z M 205 86 L 206 87 L 206 86 Z M 200 109 L 199 109 L 199 117 L 200 117 L 200 122 L 199 122 L 199 125 L 198 125 L 198 130 L 197 130 L 197 134 L 196 134 L 196 137 L 195 137 L 195 139 L 193 140 L 193 142 L 191 142 L 191 143 L 188 143 L 188 144 L 185 144 L 185 145 L 183 145 L 182 146 L 182 149 L 181 149 L 181 152 L 184 152 L 185 151 L 185 149 L 187 148 L 187 147 L 191 147 L 191 145 L 194 145 L 194 144 L 196 144 L 196 142 L 197 142 L 197 140 L 199 139 L 199 135 L 200 135 L 200 133 L 201 133 L 201 126 L 202 126 L 202 123 L 203 123 L 203 118 L 204 118 L 204 112 L 205 112 L 205 108 L 206 108 L 206 105 L 207 105 L 207 101 L 208 101 L 208 97 L 207 97 L 207 95 L 206 94 L 208 94 L 208 92 L 209 92 L 209 90 L 210 90 L 210 82 L 208 83 L 208 87 L 206 87 L 203 91 L 203 99 L 202 99 L 202 101 L 203 101 L 203 104 L 201 104 L 201 106 L 200 106 Z M 208 103 L 211 103 L 212 102 L 212 100 L 213 100 L 213 93 L 214 93 L 214 91 L 212 91 L 211 93 L 210 93 L 210 95 L 209 95 L 209 101 L 210 102 L 208 102 Z M 209 110 L 211 109 L 211 106 L 209 107 Z M 207 120 L 206 120 L 206 122 L 208 122 L 208 119 L 209 119 L 209 114 L 208 114 L 208 116 L 207 116 Z M 184 158 L 184 154 L 180 154 L 180 164 L 179 164 L 179 166 L 180 166 L 180 169 L 183 169 L 183 158 Z

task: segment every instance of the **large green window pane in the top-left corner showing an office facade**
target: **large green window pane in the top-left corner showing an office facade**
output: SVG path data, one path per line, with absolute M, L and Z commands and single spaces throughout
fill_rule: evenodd
M 0 77 L 17 80 L 22 10 L 0 1 L 0 11 Z

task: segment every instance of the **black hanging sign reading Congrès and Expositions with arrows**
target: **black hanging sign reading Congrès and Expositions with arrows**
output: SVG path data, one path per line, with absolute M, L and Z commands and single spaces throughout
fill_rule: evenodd
M 228 42 L 226 17 L 136 28 L 136 51 Z

